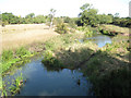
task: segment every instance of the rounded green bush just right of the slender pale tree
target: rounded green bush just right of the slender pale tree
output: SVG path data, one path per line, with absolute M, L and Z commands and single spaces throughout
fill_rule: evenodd
M 69 29 L 66 24 L 61 23 L 57 25 L 56 32 L 59 34 L 67 34 Z

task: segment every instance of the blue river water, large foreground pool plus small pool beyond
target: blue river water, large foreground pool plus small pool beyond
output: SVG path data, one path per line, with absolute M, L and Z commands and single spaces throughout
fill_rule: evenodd
M 80 39 L 81 42 L 84 40 L 92 40 L 98 47 L 111 44 L 111 38 L 105 35 Z M 5 82 L 7 87 L 10 86 L 8 83 L 11 83 L 22 73 L 26 83 L 16 96 L 93 96 L 92 84 L 80 70 L 53 70 L 44 65 L 41 60 L 43 58 L 34 57 L 31 62 L 5 75 L 3 82 Z

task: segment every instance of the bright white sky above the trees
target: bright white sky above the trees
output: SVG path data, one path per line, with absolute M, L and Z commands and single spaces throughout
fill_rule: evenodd
M 48 15 L 50 9 L 57 10 L 56 16 L 76 17 L 84 3 L 91 3 L 99 14 L 119 13 L 120 17 L 129 16 L 131 0 L 0 0 L 0 12 L 12 12 L 14 15 L 25 16 Z

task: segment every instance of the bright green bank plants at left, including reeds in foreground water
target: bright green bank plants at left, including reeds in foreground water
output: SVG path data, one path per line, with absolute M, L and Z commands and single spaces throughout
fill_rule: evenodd
M 8 90 L 5 87 L 5 84 L 2 81 L 2 76 L 10 73 L 10 70 L 13 70 L 12 68 L 20 66 L 21 64 L 24 64 L 29 61 L 29 58 L 33 57 L 35 52 L 28 51 L 26 48 L 21 47 L 15 50 L 3 50 L 1 54 L 1 63 L 0 63 L 0 91 L 1 97 L 8 96 Z M 21 76 L 22 77 L 22 76 Z M 15 78 L 15 84 L 12 84 L 11 91 L 17 91 L 20 90 L 20 85 L 23 84 L 22 79 Z M 17 85 L 16 87 L 14 85 Z M 13 93 L 14 94 L 14 93 Z

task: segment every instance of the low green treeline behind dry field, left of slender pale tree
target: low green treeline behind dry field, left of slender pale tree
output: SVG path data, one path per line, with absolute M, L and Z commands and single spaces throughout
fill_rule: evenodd
M 15 16 L 12 13 L 2 13 L 1 14 L 2 25 L 8 24 L 40 24 L 49 21 L 49 17 L 46 15 L 37 15 L 34 13 L 27 14 L 25 17 Z

